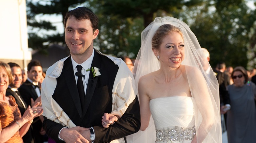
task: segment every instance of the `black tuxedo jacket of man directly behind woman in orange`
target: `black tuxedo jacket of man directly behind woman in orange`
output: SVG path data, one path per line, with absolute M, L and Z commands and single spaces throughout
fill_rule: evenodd
M 20 98 L 18 97 L 17 94 L 20 96 Z M 9 88 L 9 87 L 6 90 L 6 95 L 11 95 L 15 98 L 15 101 L 18 105 L 18 108 L 19 108 L 21 116 L 22 116 L 24 114 L 24 112 L 26 111 L 26 109 L 28 108 L 28 106 L 27 106 L 26 102 L 24 101 L 24 99 L 21 97 L 19 91 L 17 92 L 17 94 L 16 94 L 16 92 L 12 91 L 11 88 Z M 23 101 L 25 107 L 23 106 L 20 99 Z M 30 126 L 28 132 L 22 137 L 22 140 L 24 143 L 34 143 L 31 126 Z

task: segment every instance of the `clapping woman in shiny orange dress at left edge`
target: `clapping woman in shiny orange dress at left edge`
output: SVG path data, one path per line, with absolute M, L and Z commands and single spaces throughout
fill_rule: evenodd
M 33 121 L 33 118 L 42 114 L 42 107 L 29 106 L 21 117 L 18 105 L 14 97 L 6 96 L 6 89 L 12 81 L 11 68 L 0 61 L 0 142 L 22 143 Z

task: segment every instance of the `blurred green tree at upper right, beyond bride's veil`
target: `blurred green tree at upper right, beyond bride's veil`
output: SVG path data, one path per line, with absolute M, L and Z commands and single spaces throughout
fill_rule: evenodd
M 228 66 L 246 67 L 248 32 L 255 19 L 253 10 L 243 0 L 208 1 L 195 14 L 191 29 L 200 45 L 210 52 L 213 68 L 220 61 Z

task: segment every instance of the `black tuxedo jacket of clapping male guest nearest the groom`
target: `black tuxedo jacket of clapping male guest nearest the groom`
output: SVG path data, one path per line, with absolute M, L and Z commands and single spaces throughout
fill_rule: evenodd
M 32 86 L 32 83 L 26 80 L 25 83 L 23 83 L 19 88 L 18 91 L 20 92 L 22 98 L 27 103 L 27 105 L 31 106 L 31 98 L 35 101 L 38 96 L 35 92 L 34 87 Z M 32 134 L 35 139 L 35 143 L 43 143 L 44 142 L 44 136 L 40 134 L 42 128 L 42 122 L 39 119 L 39 117 L 36 117 L 33 119 L 32 123 Z

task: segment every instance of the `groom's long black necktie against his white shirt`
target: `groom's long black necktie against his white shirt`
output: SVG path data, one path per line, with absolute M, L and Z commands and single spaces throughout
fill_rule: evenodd
M 77 72 L 82 74 L 82 66 L 77 65 L 76 69 L 77 69 Z M 82 106 L 82 109 L 83 109 L 85 93 L 84 93 L 84 84 L 83 84 L 82 76 L 77 77 L 77 89 L 78 89 L 78 94 L 79 94 L 79 97 L 80 97 L 81 106 Z

